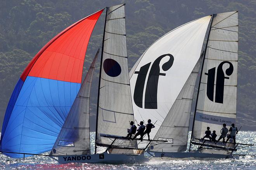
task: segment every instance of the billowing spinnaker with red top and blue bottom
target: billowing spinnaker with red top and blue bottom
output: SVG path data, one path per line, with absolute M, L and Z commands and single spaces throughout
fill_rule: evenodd
M 52 149 L 80 89 L 88 41 L 103 10 L 59 33 L 28 64 L 5 112 L 0 151 Z M 23 157 L 16 153 L 5 154 Z

